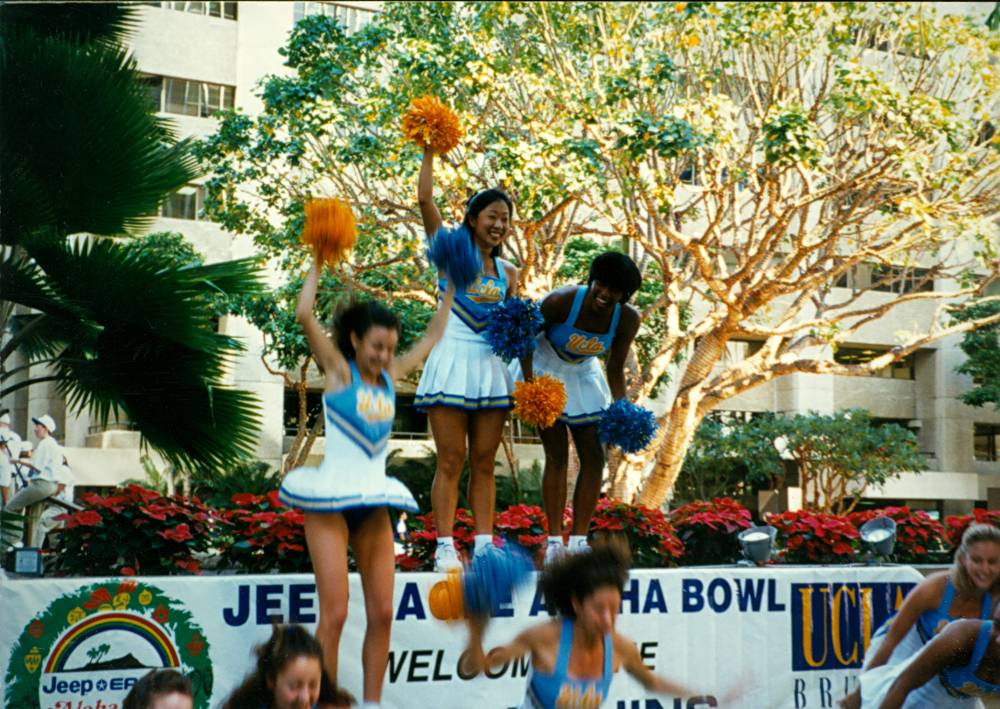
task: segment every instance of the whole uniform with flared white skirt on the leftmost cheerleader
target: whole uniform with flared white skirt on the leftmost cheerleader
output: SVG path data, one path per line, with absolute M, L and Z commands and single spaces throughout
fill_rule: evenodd
M 318 468 L 296 468 L 285 476 L 278 498 L 304 512 L 349 512 L 374 507 L 417 511 L 413 495 L 399 480 L 385 474 L 396 390 L 382 370 L 383 386 L 361 379 L 357 364 L 348 361 L 351 381 L 343 389 L 323 394 L 326 449 Z

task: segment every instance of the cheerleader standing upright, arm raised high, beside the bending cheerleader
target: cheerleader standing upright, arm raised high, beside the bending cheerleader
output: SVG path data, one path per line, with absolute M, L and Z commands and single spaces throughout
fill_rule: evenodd
M 417 199 L 424 230 L 432 239 L 442 227 L 433 192 L 434 152 L 425 148 Z M 461 567 L 452 528 L 466 455 L 475 551 L 492 544 L 494 467 L 514 385 L 482 332 L 490 308 L 517 288 L 517 269 L 499 258 L 500 246 L 510 233 L 512 209 L 510 197 L 496 189 L 479 192 L 466 204 L 462 226 L 482 257 L 483 269 L 468 287 L 455 293 L 444 337 L 427 358 L 417 386 L 415 404 L 427 412 L 437 449 L 431 506 L 438 532 L 434 561 L 438 571 Z

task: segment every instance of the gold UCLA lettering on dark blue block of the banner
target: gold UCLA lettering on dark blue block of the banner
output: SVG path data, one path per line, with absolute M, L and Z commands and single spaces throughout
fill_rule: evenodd
M 792 584 L 792 669 L 860 668 L 872 634 L 913 583 Z

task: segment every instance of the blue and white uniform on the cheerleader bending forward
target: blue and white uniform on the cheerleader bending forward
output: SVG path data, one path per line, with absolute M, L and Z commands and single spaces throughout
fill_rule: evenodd
M 548 374 L 566 387 L 566 408 L 559 420 L 569 426 L 596 424 L 611 403 L 611 389 L 601 371 L 599 357 L 611 349 L 622 306 L 615 304 L 607 332 L 587 332 L 576 327 L 586 295 L 587 286 L 578 286 L 566 321 L 551 325 L 538 335 L 531 364 L 536 377 Z M 524 379 L 519 361 L 510 363 L 510 371 L 516 381 Z

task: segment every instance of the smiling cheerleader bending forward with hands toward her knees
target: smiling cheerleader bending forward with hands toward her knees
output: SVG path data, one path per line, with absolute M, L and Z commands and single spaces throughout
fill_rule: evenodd
M 551 535 L 546 561 L 563 551 L 567 429 L 580 459 L 569 549 L 579 551 L 587 546 L 587 530 L 604 471 L 604 446 L 597 423 L 612 400 L 625 397 L 625 359 L 642 319 L 628 301 L 640 285 L 642 276 L 632 259 L 617 251 L 601 254 L 590 264 L 586 286 L 565 286 L 545 297 L 545 326 L 537 338 L 537 349 L 519 362 L 511 362 L 515 380 L 530 381 L 548 374 L 566 388 L 566 408 L 555 424 L 539 431 L 545 449 L 542 505 Z M 607 357 L 606 379 L 599 362 L 602 356 Z

